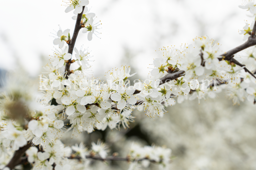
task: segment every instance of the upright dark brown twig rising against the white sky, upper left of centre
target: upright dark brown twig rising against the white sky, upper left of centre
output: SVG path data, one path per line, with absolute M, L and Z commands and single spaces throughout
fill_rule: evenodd
M 84 10 L 84 6 L 83 6 L 83 10 Z M 70 54 L 73 53 L 73 49 L 74 49 L 74 45 L 76 43 L 78 32 L 82 28 L 81 27 L 81 19 L 83 16 L 83 10 L 80 14 L 77 15 L 77 21 L 76 21 L 74 33 L 73 33 L 70 43 L 68 44 L 68 53 L 70 53 Z M 69 72 L 70 64 L 71 64 L 71 59 L 69 59 L 68 62 L 66 63 L 66 67 L 65 67 L 65 71 L 67 71 L 66 76 L 69 75 L 69 73 L 70 73 Z

